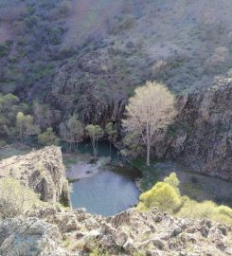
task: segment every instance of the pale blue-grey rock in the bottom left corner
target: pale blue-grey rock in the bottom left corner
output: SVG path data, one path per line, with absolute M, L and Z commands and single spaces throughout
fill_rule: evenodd
M 59 229 L 38 218 L 0 220 L 0 255 L 68 256 Z

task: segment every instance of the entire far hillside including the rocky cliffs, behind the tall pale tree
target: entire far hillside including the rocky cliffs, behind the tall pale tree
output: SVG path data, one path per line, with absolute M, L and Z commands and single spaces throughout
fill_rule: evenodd
M 120 128 L 134 88 L 155 80 L 179 116 L 153 156 L 231 180 L 231 11 L 229 0 L 2 0 L 0 92 L 19 101 L 0 134 L 15 137 L 17 111 L 58 136 L 70 115 Z

